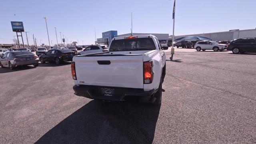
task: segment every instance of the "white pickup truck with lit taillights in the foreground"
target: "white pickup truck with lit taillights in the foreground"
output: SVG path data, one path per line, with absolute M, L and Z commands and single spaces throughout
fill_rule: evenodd
M 113 38 L 108 52 L 74 56 L 71 69 L 77 96 L 161 104 L 166 54 L 156 36 Z

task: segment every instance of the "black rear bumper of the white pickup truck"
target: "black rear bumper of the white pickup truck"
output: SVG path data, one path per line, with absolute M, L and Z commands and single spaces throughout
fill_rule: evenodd
M 106 96 L 102 92 L 102 88 L 114 89 L 113 96 Z M 139 100 L 140 102 L 149 102 L 156 90 L 144 91 L 137 88 L 117 88 L 105 86 L 73 86 L 73 90 L 77 96 L 82 96 L 90 99 L 112 100 L 112 101 L 127 101 Z

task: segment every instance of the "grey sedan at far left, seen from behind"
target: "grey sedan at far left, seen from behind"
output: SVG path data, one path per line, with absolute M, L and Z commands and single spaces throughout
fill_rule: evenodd
M 11 70 L 17 66 L 38 66 L 39 58 L 32 52 L 28 51 L 12 51 L 6 52 L 0 59 L 0 66 L 9 67 Z

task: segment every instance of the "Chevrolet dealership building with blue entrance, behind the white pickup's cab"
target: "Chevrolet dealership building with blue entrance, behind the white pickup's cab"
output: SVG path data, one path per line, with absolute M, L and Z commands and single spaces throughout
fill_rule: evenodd
M 160 42 L 168 42 L 169 34 L 153 34 L 153 33 L 132 33 L 133 35 L 154 35 L 158 38 Z M 97 38 L 95 44 L 110 44 L 112 38 L 119 37 L 119 36 L 130 36 L 131 33 L 128 34 L 117 34 L 116 30 L 110 30 L 108 32 L 102 32 L 102 38 Z

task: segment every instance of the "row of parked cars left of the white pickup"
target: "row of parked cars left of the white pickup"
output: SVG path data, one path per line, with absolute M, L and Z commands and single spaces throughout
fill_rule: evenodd
M 81 48 L 82 49 L 82 48 Z M 60 64 L 64 61 L 72 61 L 75 55 L 93 54 L 98 52 L 107 52 L 108 45 L 91 45 L 87 46 L 84 50 L 81 50 L 76 46 L 70 47 L 53 47 L 51 49 L 37 48 L 36 54 L 32 53 L 28 48 L 20 48 L 16 51 L 8 49 L 0 49 L 2 52 L 0 58 L 0 66 L 9 67 L 11 70 L 18 66 L 34 65 L 38 66 L 38 63 L 44 64 L 45 62 L 54 62 Z

